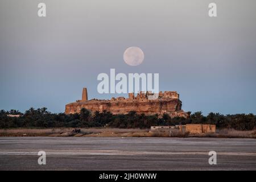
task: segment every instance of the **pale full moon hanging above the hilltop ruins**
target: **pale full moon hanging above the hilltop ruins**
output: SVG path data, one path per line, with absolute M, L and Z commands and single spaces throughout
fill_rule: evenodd
M 123 53 L 123 60 L 130 66 L 137 66 L 144 60 L 144 53 L 139 47 L 129 47 Z

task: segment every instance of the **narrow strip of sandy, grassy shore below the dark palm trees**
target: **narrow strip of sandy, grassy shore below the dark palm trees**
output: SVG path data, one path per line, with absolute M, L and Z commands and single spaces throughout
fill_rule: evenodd
M 256 130 L 237 131 L 217 130 L 217 133 L 187 134 L 149 129 L 82 128 L 81 133 L 73 133 L 73 128 L 53 129 L 0 129 L 0 137 L 219 137 L 219 138 L 256 138 Z

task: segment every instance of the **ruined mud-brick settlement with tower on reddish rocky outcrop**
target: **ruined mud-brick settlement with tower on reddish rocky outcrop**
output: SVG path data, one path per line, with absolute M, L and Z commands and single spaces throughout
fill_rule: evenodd
M 137 96 L 129 93 L 129 97 L 117 97 L 111 100 L 88 100 L 87 89 L 82 90 L 82 100 L 77 100 L 65 106 L 66 114 L 79 113 L 81 108 L 91 111 L 110 111 L 113 114 L 127 114 L 129 111 L 136 111 L 138 114 L 169 114 L 171 117 L 188 117 L 188 114 L 181 109 L 179 94 L 174 91 L 140 92 Z

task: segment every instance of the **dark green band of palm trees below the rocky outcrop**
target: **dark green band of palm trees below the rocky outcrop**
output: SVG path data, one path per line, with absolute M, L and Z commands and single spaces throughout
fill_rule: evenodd
M 150 126 L 185 125 L 187 123 L 214 124 L 218 129 L 232 128 L 236 130 L 253 130 L 256 125 L 254 114 L 222 115 L 209 113 L 204 116 L 201 111 L 191 114 L 189 118 L 171 118 L 168 114 L 159 115 L 137 114 L 130 111 L 128 114 L 113 115 L 108 111 L 95 111 L 82 108 L 77 114 L 53 114 L 46 107 L 30 108 L 25 113 L 17 110 L 0 111 L 0 128 L 49 128 L 49 127 L 119 127 L 119 128 L 150 128 Z M 20 117 L 15 117 L 20 115 Z

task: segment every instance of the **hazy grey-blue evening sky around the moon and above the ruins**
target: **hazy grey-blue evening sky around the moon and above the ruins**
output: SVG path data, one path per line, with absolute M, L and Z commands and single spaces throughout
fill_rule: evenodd
M 46 3 L 47 17 L 37 5 Z M 210 2 L 217 17 L 208 16 Z M 254 0 L 0 1 L 0 109 L 65 104 L 98 94 L 97 75 L 159 73 L 186 111 L 256 114 Z M 137 46 L 144 61 L 123 61 Z M 122 95 L 123 96 L 123 95 Z M 126 95 L 125 95 L 126 96 Z

